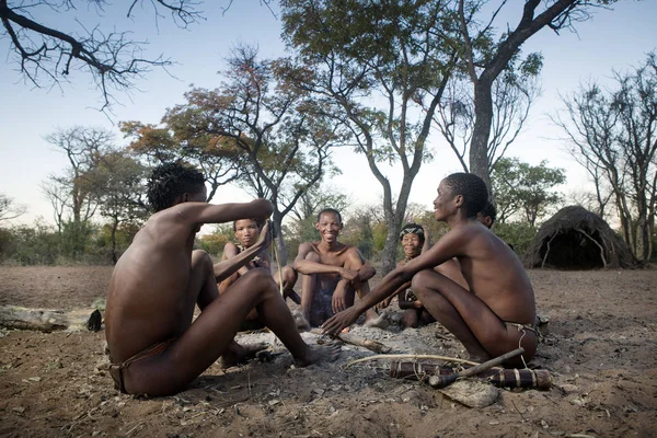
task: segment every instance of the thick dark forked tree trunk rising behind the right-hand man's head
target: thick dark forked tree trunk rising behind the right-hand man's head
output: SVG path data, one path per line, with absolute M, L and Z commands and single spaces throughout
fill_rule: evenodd
M 599 1 L 609 3 L 611 1 Z M 548 27 L 555 32 L 572 28 L 577 21 L 589 18 L 593 5 L 588 0 L 541 1 L 527 0 L 522 4 L 520 21 L 514 30 L 508 28 L 495 43 L 491 30 L 506 1 L 492 5 L 488 0 L 458 0 L 458 15 L 463 42 L 466 72 L 473 85 L 474 125 L 470 143 L 470 171 L 481 176 L 491 186 L 491 163 L 493 162 L 489 138 L 494 119 L 493 88 L 499 74 L 518 61 L 520 47 L 540 30 Z M 514 7 L 517 4 L 514 2 Z M 493 8 L 492 13 L 484 12 Z M 507 26 L 508 27 L 508 26 Z M 531 71 L 539 65 L 540 56 L 530 54 L 520 61 L 521 69 Z

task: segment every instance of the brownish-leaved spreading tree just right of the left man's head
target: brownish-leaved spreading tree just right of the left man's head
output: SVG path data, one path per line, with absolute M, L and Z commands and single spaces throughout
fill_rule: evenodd
M 247 46 L 237 47 L 227 61 L 221 88 L 193 89 L 187 103 L 169 111 L 165 119 L 232 142 L 242 160 L 242 186 L 272 201 L 273 222 L 280 230 L 300 197 L 337 172 L 330 154 L 342 139 L 308 93 L 285 80 L 279 61 L 260 60 Z M 276 245 L 284 264 L 281 233 Z

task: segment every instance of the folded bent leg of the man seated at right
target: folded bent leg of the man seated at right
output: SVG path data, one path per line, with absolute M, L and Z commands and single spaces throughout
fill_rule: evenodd
M 425 309 L 476 359 L 487 360 L 518 348 L 520 339 L 525 356 L 533 357 L 532 333 L 522 338 L 522 333 L 507 330 L 488 306 L 446 276 L 433 269 L 422 270 L 413 277 L 412 287 Z

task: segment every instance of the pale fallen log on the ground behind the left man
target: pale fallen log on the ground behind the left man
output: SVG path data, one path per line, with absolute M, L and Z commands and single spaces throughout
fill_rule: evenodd
M 0 326 L 46 333 L 69 328 L 97 332 L 102 326 L 102 315 L 97 309 L 66 311 L 0 306 Z

